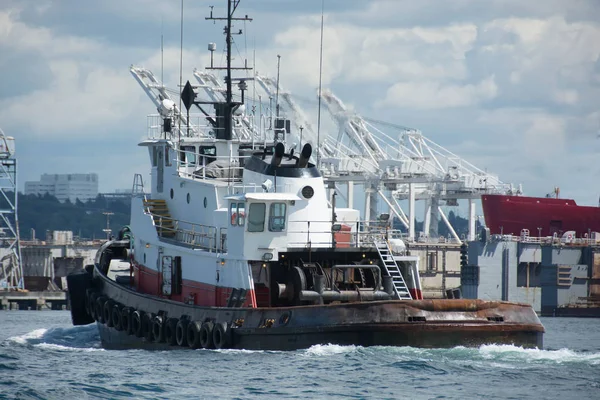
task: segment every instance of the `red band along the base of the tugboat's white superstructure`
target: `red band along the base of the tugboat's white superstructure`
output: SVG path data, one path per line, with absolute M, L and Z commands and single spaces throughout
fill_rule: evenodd
M 233 290 L 230 287 L 214 286 L 184 279 L 181 285 L 181 294 L 163 295 L 161 290 L 162 276 L 157 271 L 139 264 L 133 264 L 133 282 L 135 289 L 140 293 L 205 307 L 225 307 Z M 256 307 L 254 290 L 249 290 L 246 293 L 243 307 Z

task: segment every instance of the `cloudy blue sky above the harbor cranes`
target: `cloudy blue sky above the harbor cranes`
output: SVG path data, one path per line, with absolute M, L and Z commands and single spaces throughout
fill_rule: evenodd
M 525 194 L 600 195 L 600 2 L 325 0 L 323 87 L 361 115 L 420 129 Z M 184 82 L 209 60 L 223 0 L 184 0 Z M 316 98 L 321 0 L 246 0 L 236 50 Z M 100 191 L 147 173 L 152 102 L 130 65 L 179 82 L 180 1 L 0 2 L 0 128 L 19 188 L 43 173 L 96 172 Z

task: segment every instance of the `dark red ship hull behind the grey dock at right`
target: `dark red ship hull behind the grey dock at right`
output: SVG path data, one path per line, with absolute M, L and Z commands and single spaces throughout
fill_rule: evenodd
M 481 205 L 492 234 L 520 235 L 528 229 L 531 236 L 560 237 L 575 231 L 576 237 L 583 237 L 600 232 L 600 207 L 578 206 L 571 199 L 483 195 Z

